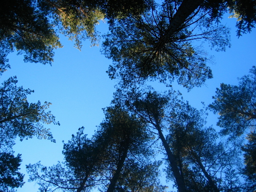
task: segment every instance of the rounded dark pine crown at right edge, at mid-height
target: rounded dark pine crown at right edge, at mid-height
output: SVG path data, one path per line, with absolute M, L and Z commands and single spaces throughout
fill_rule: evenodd
M 256 119 L 256 68 L 250 75 L 239 79 L 238 86 L 222 83 L 217 88 L 214 102 L 209 105 L 214 113 L 220 115 L 218 126 L 222 134 L 240 136 L 247 128 L 254 128 Z

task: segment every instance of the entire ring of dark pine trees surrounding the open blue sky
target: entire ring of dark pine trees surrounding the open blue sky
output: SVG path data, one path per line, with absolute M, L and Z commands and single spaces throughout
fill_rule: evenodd
M 226 12 L 238 18 L 238 37 L 250 32 L 256 22 L 255 0 L 5 0 L 0 12 L 0 73 L 10 68 L 10 52 L 23 54 L 25 62 L 51 64 L 54 49 L 62 47 L 58 35 L 81 49 L 83 40 L 100 42 L 100 21 L 109 24 L 102 52 L 113 61 L 108 75 L 119 80 L 114 100 L 92 138 L 82 127 L 64 143 L 64 162 L 27 166 L 41 192 L 164 192 L 162 162 L 178 192 L 256 190 L 255 67 L 238 86 L 221 84 L 217 89 L 209 107 L 220 114 L 220 135 L 205 126 L 206 111 L 190 106 L 179 92 L 142 87 L 148 80 L 167 86 L 177 80 L 188 90 L 202 86 L 212 71 L 201 43 L 217 51 L 230 46 L 229 30 L 220 24 Z M 59 124 L 46 112 L 49 102 L 28 103 L 26 96 L 33 91 L 16 83 L 16 77 L 9 78 L 0 88 L 1 191 L 23 185 L 14 140 L 36 136 L 54 142 L 42 123 Z M 242 142 L 220 137 L 237 138 L 248 128 L 242 167 Z M 157 161 L 159 153 L 164 158 Z M 239 180 L 242 176 L 245 181 Z

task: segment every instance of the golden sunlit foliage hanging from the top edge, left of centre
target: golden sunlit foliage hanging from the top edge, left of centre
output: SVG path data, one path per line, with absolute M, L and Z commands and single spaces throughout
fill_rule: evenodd
M 87 1 L 47 0 L 40 1 L 40 7 L 53 21 L 55 32 L 74 40 L 79 50 L 86 39 L 90 39 L 92 45 L 98 43 L 95 27 L 103 20 L 104 14 L 97 6 L 90 7 Z

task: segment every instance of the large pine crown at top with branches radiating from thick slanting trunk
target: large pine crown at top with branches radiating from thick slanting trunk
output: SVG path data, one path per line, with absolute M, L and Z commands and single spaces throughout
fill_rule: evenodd
M 241 22 L 240 32 L 250 32 L 254 12 L 238 1 L 166 0 L 140 15 L 116 20 L 103 43 L 103 52 L 113 60 L 110 78 L 121 84 L 159 80 L 170 85 L 174 79 L 191 89 L 212 78 L 202 41 L 218 51 L 229 44 L 229 30 L 220 25 L 224 13 L 235 11 Z M 242 12 L 246 7 L 246 12 Z M 248 11 L 250 9 L 250 11 Z M 250 18 L 247 19 L 247 18 Z

